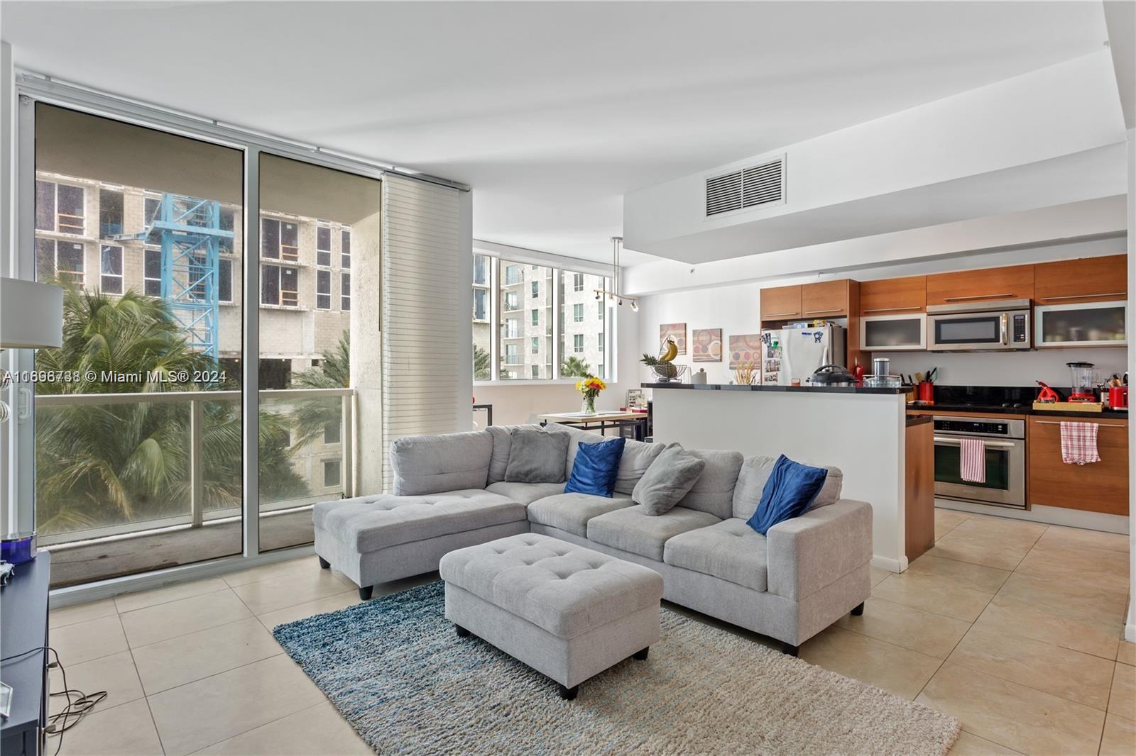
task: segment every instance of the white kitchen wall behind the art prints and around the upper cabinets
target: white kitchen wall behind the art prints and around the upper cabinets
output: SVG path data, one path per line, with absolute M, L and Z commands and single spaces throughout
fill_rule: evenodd
M 778 279 L 776 284 L 808 283 L 843 277 L 857 280 L 876 280 L 950 270 L 1121 254 L 1125 251 L 1126 241 L 1124 238 L 1105 238 L 1076 244 L 1054 244 L 996 253 L 941 258 L 900 266 L 878 266 L 842 275 L 786 277 Z M 637 351 L 655 353 L 659 348 L 659 326 L 667 322 L 685 322 L 687 337 L 693 328 L 721 328 L 722 351 L 725 353 L 730 335 L 757 333 L 760 321 L 760 289 L 763 285 L 768 284 L 707 286 L 642 297 L 640 300 Z M 1064 363 L 1075 360 L 1093 362 L 1102 370 L 1108 369 L 1109 372 L 1124 372 L 1127 369 L 1125 367 L 1126 352 L 1117 347 L 969 354 L 888 352 L 880 353 L 880 356 L 891 358 L 895 372 L 926 371 L 933 366 L 939 366 L 939 376 L 936 381 L 943 385 L 1031 386 L 1035 380 L 1044 380 L 1045 383 L 1052 381 L 1058 386 L 1068 386 L 1069 371 Z M 690 354 L 679 358 L 676 362 L 690 364 L 693 371 L 705 368 L 707 379 L 712 384 L 729 383 L 733 378 L 733 373 L 728 369 L 728 356 L 725 354 L 720 363 L 694 363 L 691 361 Z M 650 371 L 646 368 L 642 368 L 640 375 L 643 380 L 650 380 Z

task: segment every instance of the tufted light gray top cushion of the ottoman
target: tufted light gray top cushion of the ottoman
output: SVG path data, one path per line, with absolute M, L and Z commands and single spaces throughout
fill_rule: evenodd
M 575 638 L 662 598 L 654 570 L 537 534 L 450 552 L 442 579 L 560 638 Z

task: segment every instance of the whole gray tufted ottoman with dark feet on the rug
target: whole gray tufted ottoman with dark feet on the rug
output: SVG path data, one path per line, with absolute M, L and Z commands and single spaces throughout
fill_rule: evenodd
M 450 552 L 445 618 L 560 683 L 579 683 L 659 640 L 662 576 L 638 564 L 523 534 Z

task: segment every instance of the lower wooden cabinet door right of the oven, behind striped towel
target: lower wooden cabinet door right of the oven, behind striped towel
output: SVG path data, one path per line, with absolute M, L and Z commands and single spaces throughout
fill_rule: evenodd
M 1095 422 L 1100 462 L 1061 461 L 1061 421 Z M 1029 418 L 1030 504 L 1128 514 L 1128 421 L 1114 418 Z

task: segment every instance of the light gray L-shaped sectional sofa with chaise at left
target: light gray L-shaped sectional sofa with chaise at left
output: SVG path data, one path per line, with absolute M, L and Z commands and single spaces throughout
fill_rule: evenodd
M 566 480 L 577 444 L 600 440 L 565 426 L 545 431 L 570 437 Z M 375 583 L 436 570 L 456 548 L 536 532 L 651 568 L 662 574 L 663 598 L 776 638 L 788 653 L 863 610 L 871 506 L 840 498 L 840 470 L 829 469 L 808 512 L 761 536 L 746 520 L 774 459 L 688 450 L 705 461 L 702 476 L 673 510 L 648 515 L 630 494 L 661 451 L 627 440 L 605 498 L 565 494 L 562 482 L 506 482 L 504 427 L 402 438 L 391 448 L 393 495 L 315 506 L 316 553 L 369 598 Z

